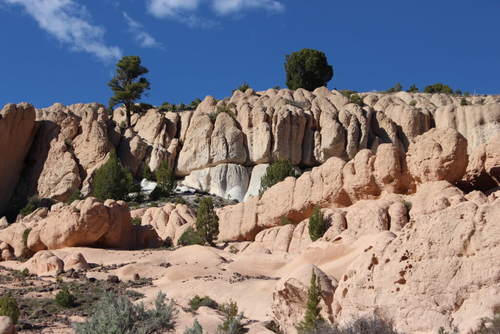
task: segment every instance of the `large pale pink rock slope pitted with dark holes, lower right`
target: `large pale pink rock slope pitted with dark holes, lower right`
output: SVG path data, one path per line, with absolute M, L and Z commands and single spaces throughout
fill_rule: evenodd
M 349 265 L 334 294 L 335 321 L 377 308 L 390 314 L 401 331 L 435 332 L 453 323 L 466 332 L 469 311 L 497 311 L 496 303 L 487 300 L 500 288 L 498 214 L 498 201 L 480 207 L 467 201 L 412 215 L 390 242 L 375 245 Z M 486 302 L 472 306 L 480 296 Z

